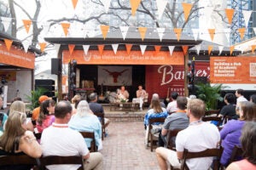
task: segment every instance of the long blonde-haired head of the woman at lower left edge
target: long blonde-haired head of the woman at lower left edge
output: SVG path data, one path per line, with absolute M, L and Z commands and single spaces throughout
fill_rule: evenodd
M 26 113 L 14 111 L 9 115 L 3 135 L 0 137 L 0 146 L 5 151 L 19 150 L 20 138 L 26 132 Z M 15 145 L 15 147 L 14 147 Z

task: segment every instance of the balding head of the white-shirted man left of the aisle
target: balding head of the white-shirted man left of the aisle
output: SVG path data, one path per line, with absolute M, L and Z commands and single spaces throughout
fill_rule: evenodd
M 72 114 L 72 105 L 69 101 L 61 100 L 55 105 L 55 118 L 64 119 L 68 114 Z

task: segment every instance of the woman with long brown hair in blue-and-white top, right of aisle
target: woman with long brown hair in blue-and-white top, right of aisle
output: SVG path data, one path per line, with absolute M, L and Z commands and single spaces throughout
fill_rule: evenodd
M 161 107 L 160 99 L 157 97 L 158 94 L 153 94 L 150 104 L 150 109 L 147 111 L 146 115 L 144 116 L 144 127 L 146 128 L 145 134 L 145 144 L 148 143 L 148 123 L 149 119 L 155 117 L 164 117 L 168 116 L 168 113 L 165 108 Z M 154 125 L 159 125 L 160 123 L 154 123 Z M 158 134 L 155 134 L 158 135 Z

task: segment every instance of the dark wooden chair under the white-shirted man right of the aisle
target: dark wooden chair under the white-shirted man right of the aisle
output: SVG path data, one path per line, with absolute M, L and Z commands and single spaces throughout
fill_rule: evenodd
M 189 150 L 184 150 L 183 151 L 183 160 L 181 163 L 181 170 L 189 169 L 186 165 L 187 159 L 192 159 L 192 158 L 200 158 L 200 157 L 209 157 L 209 156 L 214 156 L 216 159 L 213 159 L 213 170 L 218 170 L 219 167 L 221 167 L 219 163 L 219 159 L 222 155 L 223 148 L 214 148 L 214 149 L 207 149 L 203 150 L 200 152 L 189 152 Z

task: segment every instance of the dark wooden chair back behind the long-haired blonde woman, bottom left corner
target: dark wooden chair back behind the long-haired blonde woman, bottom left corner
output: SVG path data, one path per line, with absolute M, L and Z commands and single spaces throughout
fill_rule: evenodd
M 34 170 L 38 170 L 39 160 L 27 155 L 0 156 L 0 169 L 11 169 L 15 167 L 8 166 L 31 166 Z

